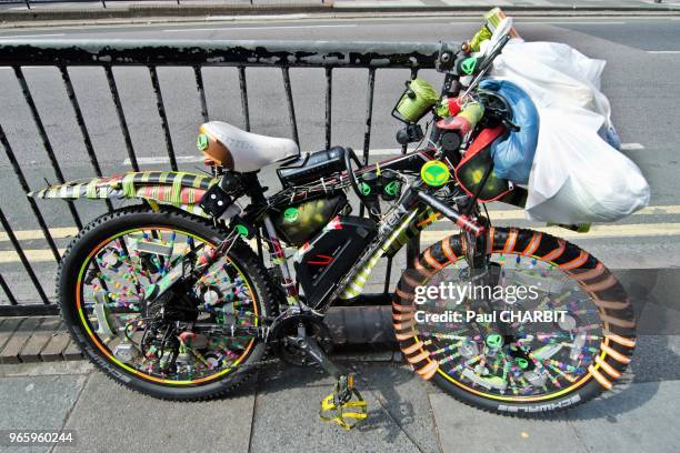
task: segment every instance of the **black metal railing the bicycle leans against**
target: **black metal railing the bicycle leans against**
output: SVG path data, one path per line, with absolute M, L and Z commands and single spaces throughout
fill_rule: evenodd
M 299 142 L 300 131 L 296 114 L 296 103 L 291 88 L 291 68 L 321 68 L 324 70 L 326 92 L 324 92 L 324 144 L 331 145 L 332 121 L 332 90 L 333 74 L 336 71 L 346 68 L 363 68 L 367 73 L 367 94 L 366 118 L 363 137 L 363 160 L 368 162 L 369 150 L 371 147 L 371 124 L 373 121 L 373 98 L 376 87 L 376 72 L 386 68 L 408 69 L 411 77 L 416 77 L 420 69 L 433 69 L 437 67 L 440 56 L 449 54 L 449 48 L 440 43 L 386 43 L 386 42 L 322 42 L 322 41 L 224 41 L 224 40 L 7 40 L 0 43 L 0 68 L 9 67 L 13 71 L 13 77 L 18 81 L 26 107 L 30 111 L 40 142 L 48 157 L 49 164 L 58 182 L 66 180 L 60 167 L 60 159 L 52 145 L 52 141 L 46 130 L 44 121 L 36 105 L 34 94 L 29 88 L 23 67 L 56 67 L 59 70 L 61 82 L 68 94 L 68 100 L 72 109 L 72 114 L 78 124 L 78 130 L 82 135 L 84 150 L 89 158 L 89 164 L 93 175 L 101 175 L 101 167 L 98 152 L 91 140 L 90 131 L 83 119 L 81 102 L 87 93 L 77 93 L 71 80 L 69 68 L 72 67 L 96 67 L 101 68 L 106 76 L 106 81 L 110 91 L 118 124 L 126 145 L 130 165 L 138 171 L 140 165 L 138 157 L 130 138 L 128 120 L 126 119 L 121 95 L 113 68 L 118 67 L 146 67 L 149 72 L 151 85 L 154 93 L 156 107 L 161 123 L 168 160 L 172 170 L 178 169 L 178 161 L 172 142 L 170 124 L 163 93 L 159 83 L 159 67 L 184 67 L 191 68 L 196 82 L 196 95 L 200 102 L 200 114 L 203 121 L 208 121 L 208 108 L 206 102 L 206 90 L 203 84 L 203 68 L 206 67 L 233 67 L 238 71 L 240 103 L 244 125 L 250 130 L 250 111 L 248 95 L 248 68 L 266 67 L 280 70 L 283 82 L 283 95 L 286 108 L 289 115 L 290 137 Z M 0 108 L 2 105 L 0 104 Z M 320 113 L 320 112 L 319 112 Z M 357 140 L 358 141 L 358 140 Z M 0 144 L 4 150 L 8 161 L 11 164 L 21 190 L 29 192 L 43 185 L 43 181 L 29 181 L 26 175 L 26 163 L 17 158 L 12 145 L 12 137 L 8 137 L 0 124 Z M 32 185 L 32 187 L 31 187 Z M 60 260 L 60 250 L 52 236 L 49 224 L 41 213 L 40 207 L 33 199 L 26 198 L 19 203 L 28 203 L 31 214 L 38 222 L 47 246 L 51 251 L 56 262 Z M 109 201 L 108 209 L 112 205 Z M 76 210 L 72 201 L 67 202 L 68 212 L 73 224 L 80 229 L 83 221 Z M 36 286 L 39 301 L 18 301 L 12 293 L 8 282 L 0 273 L 0 286 L 2 288 L 7 302 L 0 302 L 0 315 L 3 314 L 40 314 L 53 313 L 57 311 L 52 300 L 46 294 L 41 279 L 33 269 L 30 256 L 24 253 L 20 239 L 12 230 L 12 225 L 6 213 L 0 209 L 0 222 L 4 230 L 6 241 L 11 243 L 18 261 L 30 280 Z M 411 249 L 411 254 L 414 251 Z M 389 288 L 391 262 L 388 263 L 386 276 L 386 293 Z M 0 268 L 1 269 L 1 268 Z M 31 303 L 32 302 L 32 303 Z M 38 302 L 38 303 L 36 303 Z

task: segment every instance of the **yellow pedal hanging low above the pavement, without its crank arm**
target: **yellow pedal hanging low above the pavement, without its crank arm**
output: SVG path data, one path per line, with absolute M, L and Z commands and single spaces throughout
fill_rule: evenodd
M 334 422 L 349 431 L 368 419 L 368 404 L 361 393 L 353 386 L 353 378 L 342 385 L 336 384 L 333 392 L 321 400 L 319 417 L 324 422 Z

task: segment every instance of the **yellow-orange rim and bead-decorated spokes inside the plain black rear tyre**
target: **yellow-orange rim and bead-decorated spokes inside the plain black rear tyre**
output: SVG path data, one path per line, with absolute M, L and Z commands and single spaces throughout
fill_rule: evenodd
M 163 254 L 149 253 L 153 248 Z M 89 339 L 109 361 L 154 383 L 198 385 L 212 382 L 233 372 L 254 348 L 254 338 L 202 335 L 203 342 L 202 338 L 200 341 L 190 341 L 186 335 L 179 339 L 182 332 L 174 332 L 181 351 L 173 359 L 174 364 L 167 368 L 161 364 L 163 359 L 164 362 L 169 359 L 164 354 L 167 351 L 142 346 L 146 343 L 143 331 L 152 323 L 143 315 L 143 289 L 164 275 L 171 268 L 169 263 L 191 248 L 200 250 L 197 253 L 200 256 L 214 244 L 196 233 L 170 226 L 136 228 L 103 240 L 79 270 L 76 305 Z M 201 302 L 198 321 L 259 324 L 257 293 L 229 258 L 214 263 L 189 292 Z M 102 303 L 109 309 L 103 315 L 97 306 Z M 118 334 L 112 336 L 110 332 Z M 121 346 L 121 343 L 131 345 Z M 131 356 L 134 359 L 126 360 Z

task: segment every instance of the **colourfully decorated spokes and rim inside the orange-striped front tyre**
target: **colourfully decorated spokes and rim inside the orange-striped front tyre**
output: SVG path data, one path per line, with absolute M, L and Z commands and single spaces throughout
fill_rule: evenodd
M 491 261 L 500 265 L 506 283 L 511 273 L 512 276 L 520 275 L 523 284 L 534 279 L 548 290 L 541 291 L 536 306 L 514 305 L 509 311 L 566 310 L 567 318 L 561 323 L 552 323 L 550 330 L 546 330 L 546 323 L 536 321 L 513 323 L 516 339 L 501 335 L 492 321 L 419 322 L 413 341 L 422 342 L 428 356 L 438 362 L 438 374 L 471 393 L 508 402 L 554 399 L 587 382 L 589 365 L 603 340 L 599 308 L 591 294 L 568 273 L 536 258 L 493 253 Z M 434 273 L 423 285 L 439 285 L 449 281 L 464 285 L 468 272 L 461 259 Z M 493 302 L 493 310 L 508 310 L 499 305 L 507 305 L 507 302 Z M 474 304 L 450 305 L 450 300 L 433 299 L 417 306 L 417 310 L 437 314 L 446 311 L 484 311 Z M 488 303 L 484 308 L 491 311 Z

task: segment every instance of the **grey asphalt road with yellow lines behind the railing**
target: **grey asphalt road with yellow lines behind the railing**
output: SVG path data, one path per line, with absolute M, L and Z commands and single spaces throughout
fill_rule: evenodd
M 652 188 L 653 207 L 643 215 L 619 222 L 622 229 L 574 240 L 616 269 L 664 268 L 680 264 L 680 204 L 677 149 L 680 142 L 677 109 L 680 94 L 680 21 L 677 18 L 543 18 L 521 19 L 517 28 L 527 40 L 566 42 L 589 57 L 607 60 L 602 89 L 609 97 L 613 121 L 623 151 L 641 169 Z M 460 41 L 479 27 L 471 19 L 410 18 L 363 20 L 306 20 L 268 22 L 220 22 L 177 24 L 136 24 L 78 28 L 0 30 L 0 42 L 9 37 L 27 38 L 99 38 L 99 39 L 276 39 L 276 40 L 383 40 L 383 41 Z M 117 69 L 119 90 L 138 157 L 143 162 L 167 157 L 156 109 L 156 99 L 146 69 Z M 254 132 L 289 137 L 290 124 L 278 69 L 249 69 L 248 91 L 251 127 Z M 27 68 L 26 74 L 43 118 L 49 138 L 67 179 L 92 175 L 92 168 L 60 76 L 52 68 Z M 189 69 L 159 69 L 163 99 L 178 157 L 197 157 L 194 138 L 201 123 L 199 99 L 193 74 Z M 203 72 L 208 110 L 211 119 L 243 125 L 240 91 L 236 70 L 208 68 Z M 439 74 L 424 71 L 422 77 L 437 84 Z M 71 70 L 86 122 L 103 173 L 129 170 L 122 135 L 104 74 L 98 69 Z M 397 149 L 394 132 L 398 122 L 390 110 L 399 95 L 408 71 L 379 71 L 373 108 L 372 149 Z M 324 76 L 322 70 L 291 70 L 301 148 L 323 148 Z M 360 148 L 366 104 L 366 70 L 338 70 L 333 79 L 332 142 Z M 54 181 L 54 173 L 19 85 L 9 68 L 0 68 L 0 124 L 19 157 L 31 188 L 41 188 L 43 179 Z M 46 282 L 48 294 L 56 271 L 44 250 L 44 241 L 31 239 L 37 222 L 14 178 L 4 153 L 0 153 L 0 208 L 11 225 L 23 232 L 22 245 L 36 251 L 34 266 Z M 199 163 L 184 163 L 193 170 Z M 167 164 L 143 164 L 144 169 L 169 168 Z M 604 171 L 606 169 L 603 169 Z M 269 174 L 269 173 L 268 173 Z M 270 175 L 268 184 L 278 187 Z M 72 226 L 64 204 L 41 201 L 40 209 L 52 228 Z M 500 208 L 500 207 L 499 207 Z M 78 202 L 83 221 L 104 210 L 103 203 Z M 529 224 L 511 215 L 501 223 Z M 444 223 L 437 229 L 450 229 Z M 39 236 L 39 234 L 38 234 Z M 592 239 L 589 239 L 592 238 Z M 68 239 L 60 239 L 66 246 Z M 0 235 L 0 271 L 20 301 L 37 301 L 34 290 L 26 285 L 26 274 L 11 253 L 7 236 Z M 31 252 L 32 253 L 32 252 Z M 46 258 L 47 256 L 47 258 Z M 0 294 L 0 301 L 4 301 Z M 2 303 L 2 302 L 0 302 Z

